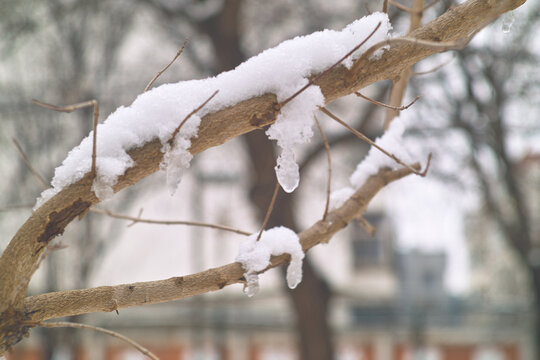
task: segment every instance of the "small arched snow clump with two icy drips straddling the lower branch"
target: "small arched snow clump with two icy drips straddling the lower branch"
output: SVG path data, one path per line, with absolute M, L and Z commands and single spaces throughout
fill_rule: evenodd
M 290 254 L 291 262 L 287 268 L 287 285 L 294 289 L 302 281 L 302 259 L 304 251 L 298 235 L 289 228 L 279 226 L 263 231 L 259 241 L 258 234 L 249 236 L 240 243 L 236 261 L 246 270 L 244 277 L 247 285 L 244 292 L 253 296 L 259 291 L 260 271 L 270 265 L 270 257 Z

